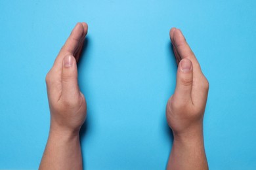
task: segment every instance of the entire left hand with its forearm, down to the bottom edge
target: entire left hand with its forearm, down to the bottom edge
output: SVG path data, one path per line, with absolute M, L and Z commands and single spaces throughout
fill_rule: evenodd
M 83 169 L 79 130 L 86 101 L 77 83 L 77 61 L 88 26 L 77 23 L 46 76 L 51 127 L 39 169 Z

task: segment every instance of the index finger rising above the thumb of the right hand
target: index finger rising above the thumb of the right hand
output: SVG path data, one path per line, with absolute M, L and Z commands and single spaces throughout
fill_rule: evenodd
M 202 73 L 200 64 L 198 63 L 198 60 L 196 59 L 196 56 L 192 52 L 190 46 L 186 42 L 186 39 L 182 35 L 182 32 L 180 29 L 173 28 L 170 31 L 171 33 L 171 39 L 173 40 L 173 46 L 175 46 L 177 53 L 183 58 L 188 58 L 192 61 L 193 63 L 193 71 L 195 73 Z

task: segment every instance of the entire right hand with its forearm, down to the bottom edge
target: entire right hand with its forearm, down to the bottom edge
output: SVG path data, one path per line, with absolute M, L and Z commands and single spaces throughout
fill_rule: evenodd
M 203 145 L 203 114 L 209 82 L 181 30 L 172 28 L 170 38 L 179 67 L 175 92 L 166 108 L 174 138 L 167 169 L 208 169 Z

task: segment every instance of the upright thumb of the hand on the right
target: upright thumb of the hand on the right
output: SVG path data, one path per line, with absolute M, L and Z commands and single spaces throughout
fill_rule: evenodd
M 177 82 L 174 98 L 179 103 L 186 103 L 191 99 L 193 71 L 190 59 L 181 59 L 177 71 Z

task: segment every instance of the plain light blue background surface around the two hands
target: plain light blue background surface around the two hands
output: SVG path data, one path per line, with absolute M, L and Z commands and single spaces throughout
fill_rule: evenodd
M 86 169 L 165 169 L 175 88 L 169 29 L 179 27 L 210 82 L 210 169 L 256 168 L 256 1 L 0 1 L 0 168 L 37 169 L 49 132 L 45 75 L 87 22 L 79 85 Z

